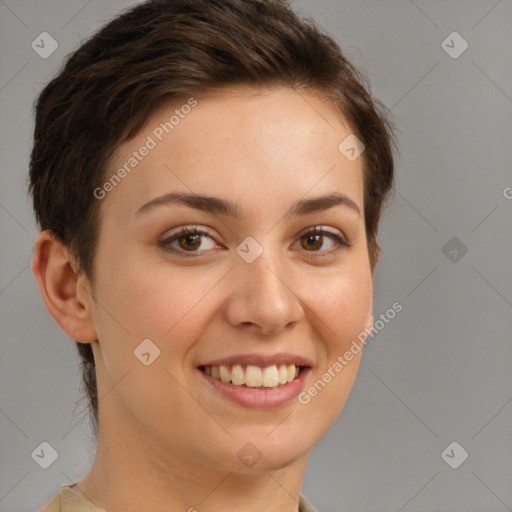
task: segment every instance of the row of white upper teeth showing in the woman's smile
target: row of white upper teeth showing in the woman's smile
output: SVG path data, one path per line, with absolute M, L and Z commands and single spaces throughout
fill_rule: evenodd
M 234 364 L 232 366 L 203 366 L 206 375 L 223 382 L 231 382 L 236 386 L 274 388 L 291 382 L 299 375 L 299 367 L 295 364 L 280 364 L 261 368 L 259 366 Z

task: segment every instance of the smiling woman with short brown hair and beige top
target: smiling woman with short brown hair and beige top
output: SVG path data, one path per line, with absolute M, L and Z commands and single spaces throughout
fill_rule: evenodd
M 148 1 L 68 58 L 36 105 L 32 269 L 98 445 L 42 511 L 314 510 L 373 325 L 382 107 L 277 0 Z

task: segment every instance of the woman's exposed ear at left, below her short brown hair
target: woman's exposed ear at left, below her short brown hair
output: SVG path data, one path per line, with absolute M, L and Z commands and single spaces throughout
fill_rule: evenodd
M 77 277 L 78 265 L 70 251 L 51 230 L 36 239 L 32 272 L 48 311 L 68 336 L 82 343 L 97 340 L 92 321 L 93 299 L 85 275 Z

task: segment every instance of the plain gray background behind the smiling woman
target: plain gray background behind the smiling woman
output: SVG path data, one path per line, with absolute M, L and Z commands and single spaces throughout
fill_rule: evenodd
M 93 461 L 74 343 L 30 270 L 31 108 L 63 57 L 133 3 L 0 1 L 0 512 L 33 512 Z M 369 340 L 302 491 L 319 512 L 512 510 L 512 2 L 293 5 L 368 73 L 402 151 L 374 317 L 403 310 Z M 43 31 L 59 44 L 47 59 L 31 48 Z M 441 46 L 453 31 L 469 44 L 458 58 Z M 31 456 L 43 441 L 59 455 L 48 469 Z M 453 441 L 469 453 L 457 469 L 441 457 Z

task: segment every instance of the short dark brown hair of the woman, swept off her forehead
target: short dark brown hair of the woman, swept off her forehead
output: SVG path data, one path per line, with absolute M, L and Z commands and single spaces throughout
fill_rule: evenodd
M 99 204 L 93 191 L 116 148 L 164 101 L 218 86 L 288 85 L 319 92 L 363 141 L 364 217 L 372 272 L 380 212 L 393 184 L 389 110 L 366 76 L 286 0 L 149 0 L 123 12 L 67 56 L 35 109 L 29 193 L 36 220 L 94 281 Z M 341 141 L 340 141 L 341 142 Z M 90 344 L 76 342 L 98 435 Z

